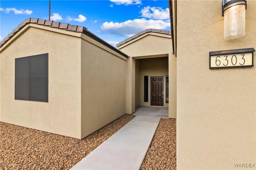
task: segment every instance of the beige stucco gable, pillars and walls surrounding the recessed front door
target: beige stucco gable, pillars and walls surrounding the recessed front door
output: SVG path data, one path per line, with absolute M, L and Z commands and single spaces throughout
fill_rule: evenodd
M 176 118 L 176 57 L 172 53 L 171 35 L 155 32 L 145 33 L 119 46 L 120 51 L 130 56 L 126 74 L 126 113 L 132 114 L 139 106 L 150 106 L 144 102 L 144 76 L 164 76 L 164 96 L 166 75 L 169 75 L 169 103 L 164 97 L 164 107 L 169 108 L 169 117 Z

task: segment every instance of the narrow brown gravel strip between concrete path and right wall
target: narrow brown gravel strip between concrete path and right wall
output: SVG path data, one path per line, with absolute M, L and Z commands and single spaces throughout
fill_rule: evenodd
M 160 120 L 140 169 L 176 169 L 176 119 Z

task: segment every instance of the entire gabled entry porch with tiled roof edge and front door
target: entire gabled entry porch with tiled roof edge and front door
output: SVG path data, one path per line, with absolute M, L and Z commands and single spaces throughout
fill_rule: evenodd
M 126 113 L 140 106 L 168 108 L 176 118 L 176 57 L 170 31 L 146 29 L 117 44 L 127 54 Z

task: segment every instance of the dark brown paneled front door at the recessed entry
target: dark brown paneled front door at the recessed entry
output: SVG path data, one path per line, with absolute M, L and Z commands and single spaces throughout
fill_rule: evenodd
M 150 106 L 164 106 L 164 77 L 150 77 Z

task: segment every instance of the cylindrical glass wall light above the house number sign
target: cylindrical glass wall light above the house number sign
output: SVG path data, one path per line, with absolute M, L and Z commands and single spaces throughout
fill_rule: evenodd
M 246 0 L 222 0 L 224 39 L 235 39 L 245 35 L 246 7 Z

